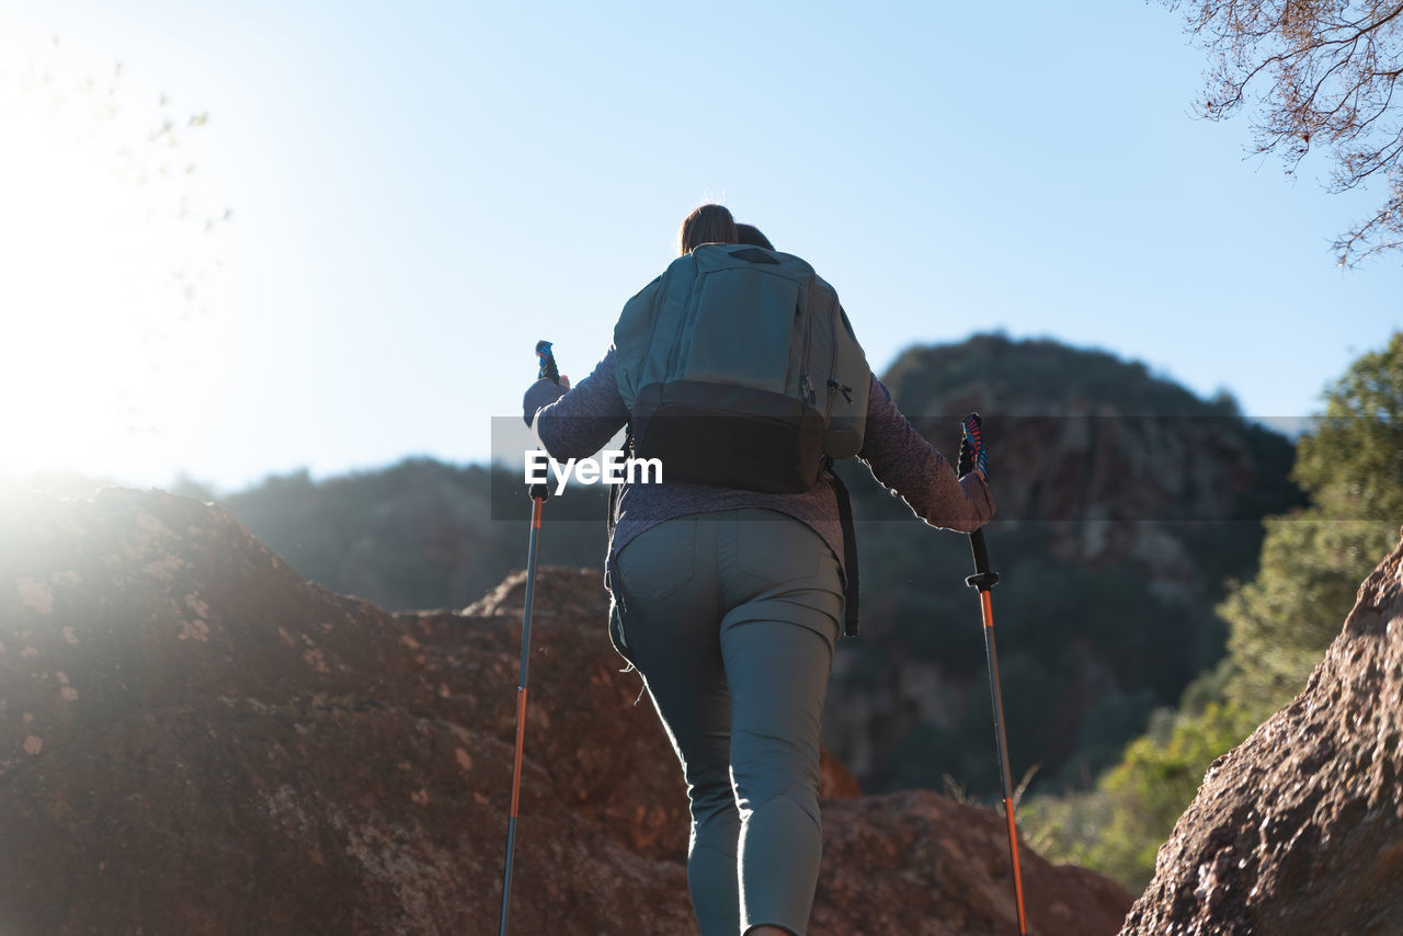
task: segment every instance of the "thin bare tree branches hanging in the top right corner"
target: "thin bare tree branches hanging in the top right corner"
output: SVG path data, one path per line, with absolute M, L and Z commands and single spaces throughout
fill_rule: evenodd
M 1177 7 L 1180 0 L 1169 0 Z M 1256 90 L 1257 153 L 1294 174 L 1315 147 L 1333 161 L 1330 191 L 1382 180 L 1383 203 L 1334 241 L 1354 265 L 1403 247 L 1403 1 L 1188 0 L 1188 28 L 1212 56 L 1200 112 L 1236 114 Z

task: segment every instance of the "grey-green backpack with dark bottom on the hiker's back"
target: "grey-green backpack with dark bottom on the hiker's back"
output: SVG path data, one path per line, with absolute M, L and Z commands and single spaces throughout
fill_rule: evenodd
M 703 244 L 624 306 L 615 373 L 662 476 L 805 491 L 863 446 L 870 370 L 838 293 L 791 254 Z

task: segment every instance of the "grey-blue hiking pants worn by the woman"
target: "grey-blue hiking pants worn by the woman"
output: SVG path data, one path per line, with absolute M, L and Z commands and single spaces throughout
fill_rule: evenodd
M 687 884 L 703 936 L 804 936 L 822 827 L 818 749 L 843 619 L 838 560 L 765 509 L 659 523 L 616 560 L 615 648 L 638 668 L 682 762 Z

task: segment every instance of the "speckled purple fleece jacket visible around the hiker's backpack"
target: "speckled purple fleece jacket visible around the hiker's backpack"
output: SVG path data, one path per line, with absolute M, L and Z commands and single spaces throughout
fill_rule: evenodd
M 558 397 L 551 401 L 553 397 Z M 557 462 L 598 452 L 629 422 L 629 408 L 615 382 L 615 352 L 570 392 L 550 380 L 537 380 L 523 401 L 525 417 L 542 446 Z M 875 376 L 867 392 L 867 424 L 857 457 L 882 487 L 901 495 L 916 516 L 932 526 L 972 533 L 993 515 L 989 486 L 978 474 L 955 477 L 954 467 L 916 432 Z M 687 514 L 707 514 L 760 507 L 808 523 L 843 561 L 843 530 L 838 498 L 828 477 L 801 494 L 766 494 L 710 484 L 669 481 L 630 484 L 620 493 L 619 523 L 609 556 L 617 556 L 650 526 Z

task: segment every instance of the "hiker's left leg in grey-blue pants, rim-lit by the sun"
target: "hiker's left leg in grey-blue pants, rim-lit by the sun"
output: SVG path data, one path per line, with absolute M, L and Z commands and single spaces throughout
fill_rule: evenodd
M 731 697 L 721 660 L 716 523 L 678 518 L 619 554 L 620 650 L 643 675 L 682 762 L 690 797 L 687 885 L 703 936 L 737 936 L 737 839 L 731 789 Z

